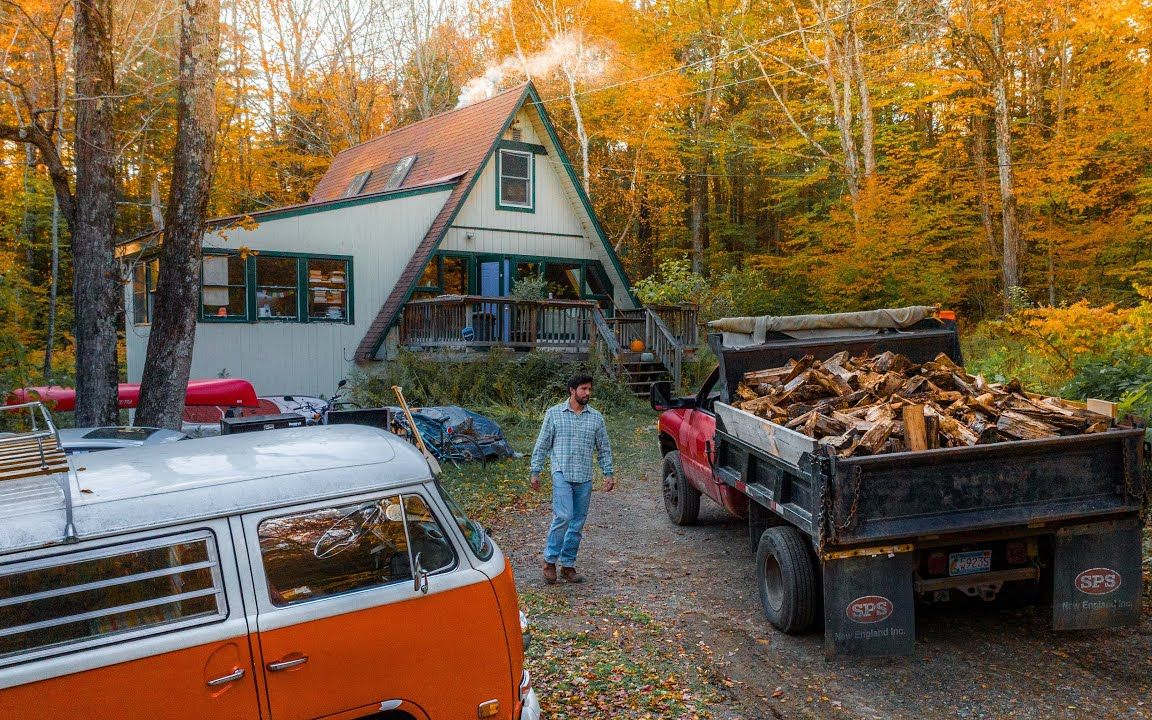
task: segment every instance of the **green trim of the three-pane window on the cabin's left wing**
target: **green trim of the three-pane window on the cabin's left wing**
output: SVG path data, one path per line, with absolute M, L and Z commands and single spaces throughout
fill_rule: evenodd
M 207 257 L 237 257 L 240 253 L 235 250 L 226 250 L 219 248 L 205 248 L 203 256 Z M 296 314 L 295 317 L 267 317 L 260 314 L 257 287 L 271 287 L 271 286 L 258 286 L 259 279 L 257 276 L 257 264 L 259 258 L 290 258 L 296 262 Z M 310 267 L 310 263 L 343 263 L 343 271 L 339 267 L 329 270 L 327 273 L 323 268 Z M 355 318 L 355 288 L 354 288 L 354 271 L 353 271 L 353 257 L 348 255 L 325 255 L 325 253 L 310 253 L 310 252 L 280 252 L 272 250 L 259 250 L 250 252 L 244 257 L 244 312 L 232 314 L 232 316 L 217 316 L 205 312 L 204 303 L 204 264 L 200 264 L 200 306 L 198 312 L 198 320 L 200 323 L 278 323 L 278 324 L 309 324 L 309 323 L 321 323 L 329 325 L 353 325 L 356 321 Z M 340 276 L 342 274 L 342 278 Z M 326 275 L 326 276 L 325 276 Z M 229 286 L 230 287 L 230 286 Z M 235 286 L 240 287 L 240 286 Z M 287 287 L 287 286 L 286 286 Z M 343 317 L 321 317 L 314 316 L 311 311 L 313 301 L 324 294 L 325 298 L 340 294 L 343 295 L 343 302 L 332 302 L 332 305 L 342 304 L 344 308 Z M 320 303 L 321 305 L 329 304 L 328 302 Z

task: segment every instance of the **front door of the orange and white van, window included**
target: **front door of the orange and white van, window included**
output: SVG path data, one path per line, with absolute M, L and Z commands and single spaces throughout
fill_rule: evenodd
M 245 518 L 272 720 L 511 702 L 495 592 L 430 507 L 395 492 Z

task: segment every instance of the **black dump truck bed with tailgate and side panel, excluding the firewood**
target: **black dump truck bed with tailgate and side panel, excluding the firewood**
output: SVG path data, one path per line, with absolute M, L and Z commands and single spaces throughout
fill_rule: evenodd
M 1138 511 L 1144 495 L 1142 429 L 840 458 L 750 412 L 715 410 L 721 432 L 761 461 L 732 473 L 751 497 L 820 517 L 825 485 L 832 545 Z

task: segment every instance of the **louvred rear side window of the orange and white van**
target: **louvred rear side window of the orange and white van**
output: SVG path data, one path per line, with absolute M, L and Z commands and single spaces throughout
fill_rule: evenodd
M 0 665 L 227 615 L 210 532 L 0 567 Z

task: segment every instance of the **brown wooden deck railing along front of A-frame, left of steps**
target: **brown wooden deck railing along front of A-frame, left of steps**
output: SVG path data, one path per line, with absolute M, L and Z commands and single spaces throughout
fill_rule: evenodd
M 422 348 L 514 348 L 586 353 L 596 303 L 445 295 L 404 305 L 400 343 Z

